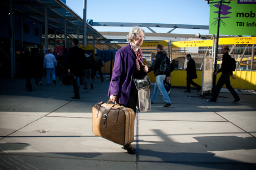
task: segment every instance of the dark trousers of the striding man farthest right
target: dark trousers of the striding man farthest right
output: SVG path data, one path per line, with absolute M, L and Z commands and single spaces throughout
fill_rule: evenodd
M 240 97 L 238 96 L 237 92 L 235 92 L 235 90 L 233 89 L 233 87 L 230 85 L 230 79 L 229 79 L 230 75 L 229 74 L 221 74 L 218 83 L 213 91 L 213 97 L 211 98 L 211 100 L 216 101 L 216 99 L 219 96 L 219 92 L 221 90 L 221 88 L 224 86 L 224 84 L 226 85 L 227 89 L 231 92 L 232 96 L 234 97 L 235 100 L 240 100 Z

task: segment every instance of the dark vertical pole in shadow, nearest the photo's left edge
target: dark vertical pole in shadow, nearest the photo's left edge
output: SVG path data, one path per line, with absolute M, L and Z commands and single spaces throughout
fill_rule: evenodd
M 10 13 L 11 13 L 11 72 L 12 72 L 12 78 L 15 76 L 15 32 L 14 32 L 14 0 L 10 1 Z

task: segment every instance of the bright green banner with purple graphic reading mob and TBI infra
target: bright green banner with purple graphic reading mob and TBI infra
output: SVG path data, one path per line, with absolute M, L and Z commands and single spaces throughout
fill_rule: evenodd
M 210 2 L 219 2 L 214 0 Z M 256 35 L 256 0 L 223 0 L 220 35 Z M 210 4 L 209 34 L 217 34 L 219 4 Z

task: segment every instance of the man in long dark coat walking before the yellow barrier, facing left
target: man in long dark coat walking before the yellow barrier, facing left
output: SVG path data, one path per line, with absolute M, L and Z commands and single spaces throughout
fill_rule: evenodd
M 190 84 L 198 87 L 198 92 L 201 90 L 201 86 L 196 84 L 193 79 L 197 79 L 198 75 L 196 75 L 196 68 L 195 68 L 195 60 L 191 58 L 190 54 L 186 55 L 186 59 L 188 60 L 188 65 L 186 67 L 186 91 L 191 92 Z

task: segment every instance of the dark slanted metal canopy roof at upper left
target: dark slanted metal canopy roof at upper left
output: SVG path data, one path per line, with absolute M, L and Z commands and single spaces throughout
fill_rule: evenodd
M 5 1 L 9 6 L 9 1 Z M 45 23 L 45 12 L 48 8 L 48 26 L 56 28 L 61 34 L 65 33 L 65 22 L 67 22 L 67 38 L 77 38 L 77 32 L 83 33 L 83 19 L 72 11 L 65 3 L 60 0 L 14 0 L 14 10 L 23 14 L 37 19 L 38 21 Z M 96 29 L 92 28 L 91 25 L 87 24 L 87 39 L 105 40 L 105 38 L 97 32 Z M 51 36 L 49 30 L 49 35 Z M 45 37 L 43 32 L 43 37 Z M 52 36 L 51 36 L 52 37 Z M 49 38 L 51 38 L 49 37 Z M 80 38 L 81 38 L 80 37 Z M 63 38 L 63 37 L 62 37 Z

